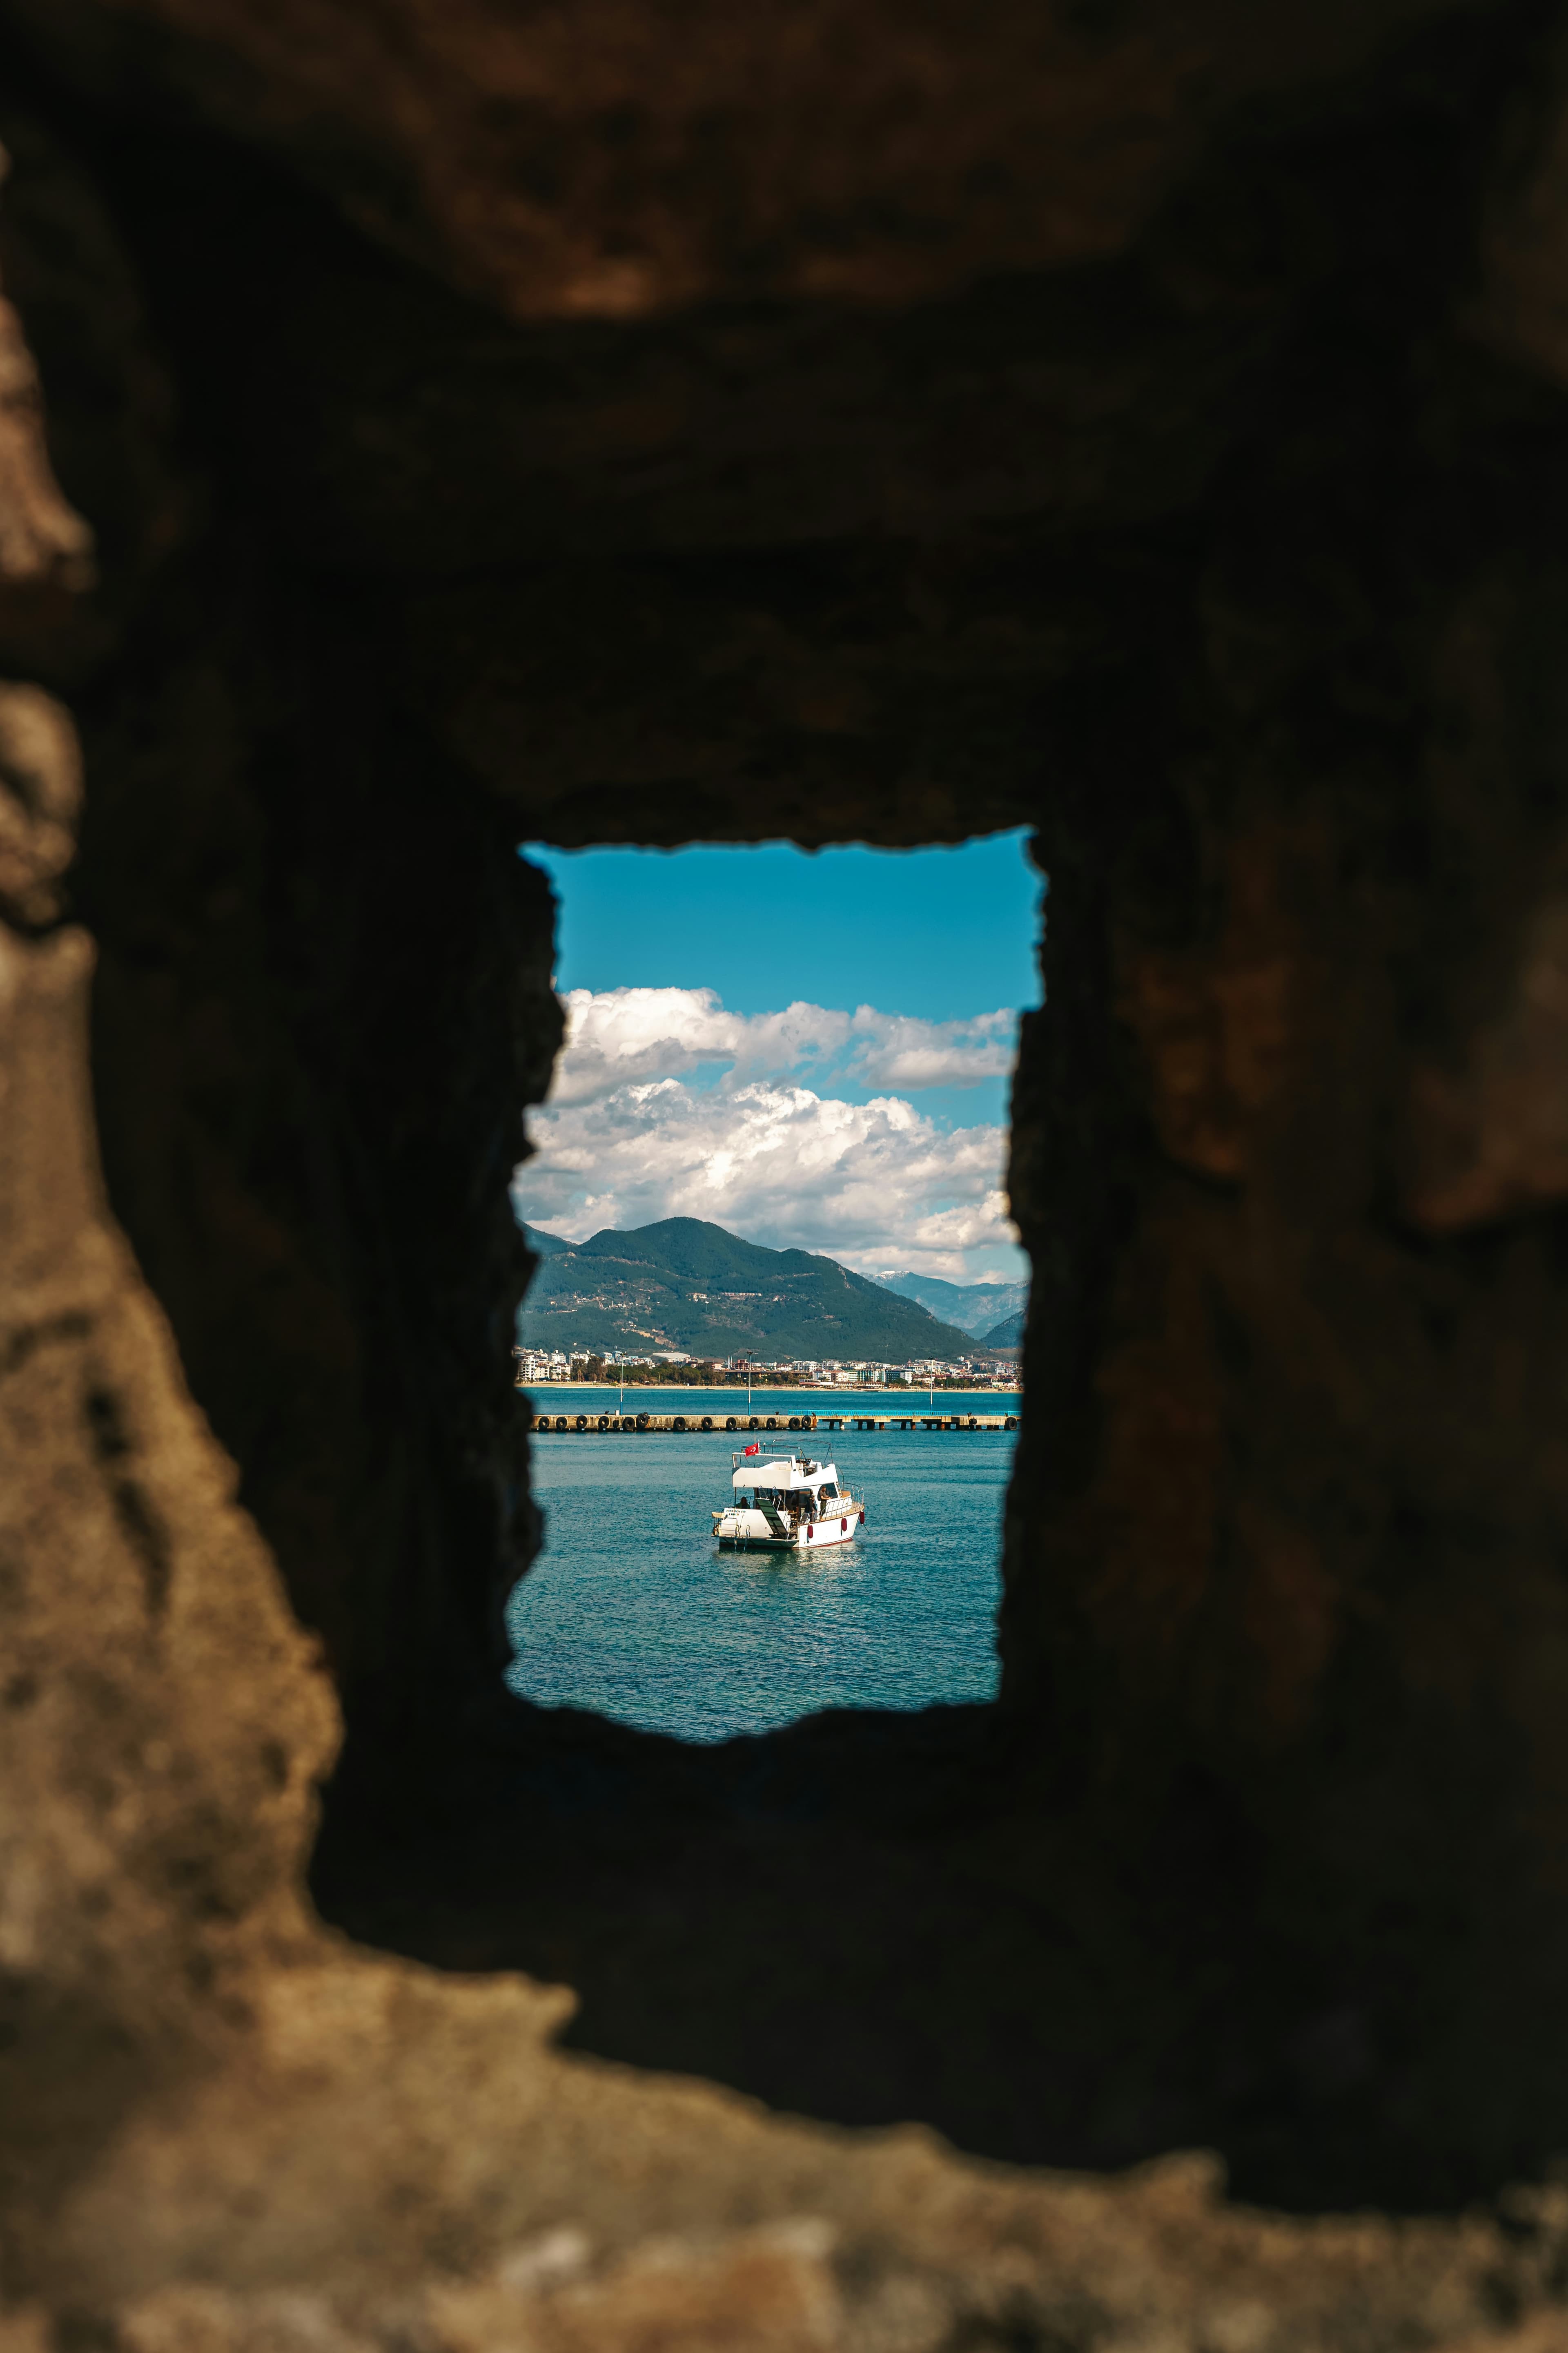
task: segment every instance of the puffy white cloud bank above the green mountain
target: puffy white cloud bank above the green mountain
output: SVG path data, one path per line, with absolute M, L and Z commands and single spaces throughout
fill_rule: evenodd
M 571 991 L 517 1212 L 571 1240 L 703 1217 L 865 1273 L 1011 1271 L 1006 1129 L 945 1127 L 893 1089 L 1004 1075 L 1013 1024 L 1011 1012 L 917 1021 L 804 1002 L 731 1014 L 710 988 Z M 715 1066 L 717 1082 L 691 1082 Z M 889 1092 L 846 1101 L 825 1092 L 835 1080 Z

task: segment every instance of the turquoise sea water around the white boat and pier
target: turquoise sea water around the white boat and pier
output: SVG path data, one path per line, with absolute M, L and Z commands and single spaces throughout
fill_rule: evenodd
M 614 1391 L 538 1388 L 541 1412 L 604 1412 Z M 886 1412 L 896 1398 L 755 1391 L 752 1412 Z M 938 1391 L 945 1412 L 1013 1398 Z M 712 1391 L 628 1391 L 649 1412 L 736 1412 Z M 924 1405 L 924 1393 L 907 1398 Z M 743 1409 L 743 1407 L 741 1407 Z M 818 1431 L 795 1440 L 867 1499 L 820 1558 L 719 1553 L 722 1433 L 538 1431 L 545 1548 L 508 1605 L 508 1682 L 543 1706 L 722 1741 L 818 1708 L 926 1708 L 997 1689 L 997 1555 L 1013 1431 Z M 778 1445 L 790 1435 L 780 1433 Z

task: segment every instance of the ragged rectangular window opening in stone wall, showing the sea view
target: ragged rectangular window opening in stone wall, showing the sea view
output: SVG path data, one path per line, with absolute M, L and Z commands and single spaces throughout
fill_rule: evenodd
M 1025 842 L 534 856 L 569 1038 L 512 1181 L 538 1254 L 517 1329 L 545 1539 L 508 1602 L 508 1685 L 703 1741 L 990 1701 L 1027 1299 L 1004 1205 L 1041 920 Z M 649 1264 L 637 1240 L 564 1240 L 628 1228 Z M 792 1257 L 752 1264 L 755 1242 Z M 750 1271 L 724 1273 L 729 1252 Z M 571 1358 L 597 1388 L 569 1391 Z M 621 1388 L 616 1358 L 642 1360 Z M 961 1461 L 952 1431 L 910 1445 L 938 1414 L 976 1424 Z M 639 1426 L 632 1459 L 614 1440 Z M 853 1464 L 853 1541 L 813 1577 L 792 1553 L 715 1555 L 726 1442 Z

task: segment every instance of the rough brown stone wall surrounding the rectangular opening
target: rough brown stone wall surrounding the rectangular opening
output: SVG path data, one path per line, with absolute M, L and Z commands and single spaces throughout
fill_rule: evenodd
M 7 2353 L 1547 2353 L 1554 9 L 0 40 Z M 1001 1706 L 510 1701 L 515 840 L 1011 824 Z

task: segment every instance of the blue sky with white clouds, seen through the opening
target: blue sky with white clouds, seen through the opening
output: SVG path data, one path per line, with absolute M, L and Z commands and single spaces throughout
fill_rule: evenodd
M 571 1042 L 520 1214 L 574 1238 L 712 1217 L 865 1273 L 1013 1280 L 997 1186 L 1039 998 L 1025 840 L 524 845 L 559 904 Z

